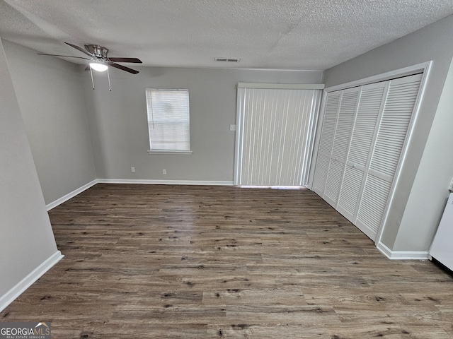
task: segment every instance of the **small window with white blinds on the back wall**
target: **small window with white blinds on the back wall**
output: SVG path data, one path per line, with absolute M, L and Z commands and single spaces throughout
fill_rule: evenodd
M 191 153 L 189 90 L 146 92 L 149 153 Z

